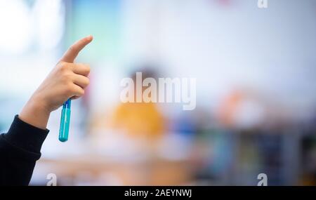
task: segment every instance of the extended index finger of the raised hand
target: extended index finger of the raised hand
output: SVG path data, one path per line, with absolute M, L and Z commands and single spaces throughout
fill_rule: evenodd
M 74 62 L 74 59 L 77 57 L 79 52 L 92 40 L 93 40 L 93 36 L 86 36 L 85 38 L 80 39 L 76 43 L 72 44 L 72 46 L 70 46 L 70 48 L 62 56 L 61 61 Z

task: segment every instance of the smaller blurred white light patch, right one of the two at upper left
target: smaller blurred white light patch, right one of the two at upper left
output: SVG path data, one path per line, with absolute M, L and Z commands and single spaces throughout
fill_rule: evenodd
M 65 4 L 61 0 L 37 0 L 34 20 L 39 48 L 50 49 L 58 45 L 65 30 Z

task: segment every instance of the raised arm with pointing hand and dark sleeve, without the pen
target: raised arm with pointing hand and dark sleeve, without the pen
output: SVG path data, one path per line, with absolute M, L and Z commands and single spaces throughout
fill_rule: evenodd
M 8 133 L 0 135 L 0 185 L 27 185 L 48 130 L 48 119 L 69 98 L 84 95 L 88 65 L 73 63 L 92 36 L 77 41 L 15 116 Z

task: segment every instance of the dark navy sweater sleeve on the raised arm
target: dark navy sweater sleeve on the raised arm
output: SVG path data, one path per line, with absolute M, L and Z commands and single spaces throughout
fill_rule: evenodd
M 0 135 L 0 185 L 29 184 L 48 132 L 15 116 L 8 133 Z

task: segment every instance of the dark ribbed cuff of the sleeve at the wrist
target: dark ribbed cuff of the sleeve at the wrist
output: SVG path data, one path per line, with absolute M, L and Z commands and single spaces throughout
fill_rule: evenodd
M 6 141 L 20 147 L 28 152 L 40 153 L 41 145 L 43 144 L 49 130 L 37 128 L 18 118 L 15 118 L 11 124 L 11 127 L 4 135 Z

